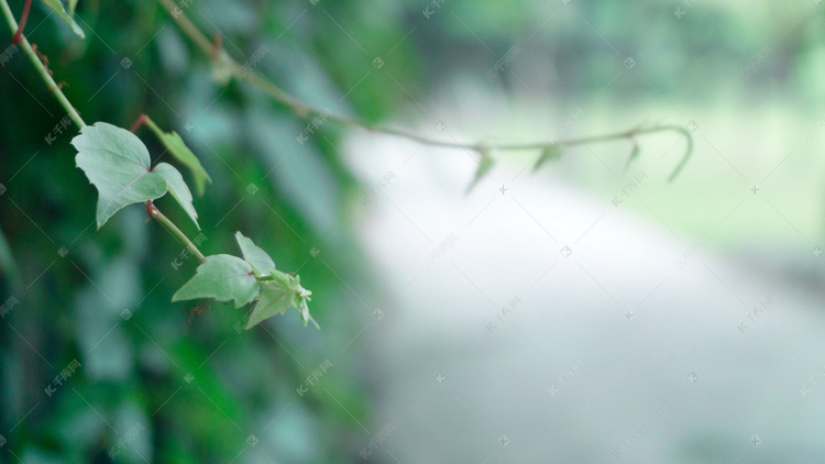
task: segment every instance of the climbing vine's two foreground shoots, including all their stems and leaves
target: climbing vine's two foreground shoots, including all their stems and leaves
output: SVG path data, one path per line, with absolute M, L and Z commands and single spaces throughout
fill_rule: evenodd
M 85 37 L 82 29 L 75 22 L 75 8 L 77 0 L 42 0 L 44 4 L 55 11 L 66 24 L 80 38 Z M 209 174 L 204 169 L 197 156 L 186 146 L 183 139 L 175 132 L 164 132 L 147 115 L 141 115 L 131 126 L 131 130 L 119 128 L 107 122 L 96 122 L 87 125 L 77 109 L 63 93 L 62 85 L 55 82 L 53 70 L 48 68 L 47 59 L 44 58 L 36 47 L 31 44 L 25 35 L 24 29 L 32 0 L 25 0 L 18 23 L 7 0 L 0 0 L 13 36 L 12 47 L 20 47 L 26 54 L 35 70 L 40 74 L 46 87 L 52 91 L 58 102 L 68 113 L 68 117 L 77 125 L 79 134 L 72 140 L 72 145 L 77 150 L 75 157 L 79 167 L 89 181 L 97 188 L 98 202 L 96 209 L 96 222 L 98 229 L 103 227 L 118 211 L 129 205 L 145 205 L 146 213 L 166 228 L 170 234 L 180 241 L 199 261 L 195 275 L 180 287 L 173 296 L 173 301 L 215 299 L 217 301 L 233 302 L 235 308 L 253 305 L 246 319 L 246 329 L 251 329 L 263 320 L 295 308 L 304 324 L 312 322 L 309 313 L 308 302 L 311 291 L 301 286 L 300 276 L 285 273 L 276 268 L 275 262 L 270 254 L 256 246 L 252 240 L 241 232 L 235 232 L 235 240 L 240 248 L 240 257 L 231 254 L 217 254 L 205 256 L 191 240 L 161 210 L 154 205 L 154 200 L 170 194 L 193 225 L 198 230 L 198 213 L 193 205 L 193 194 L 184 176 L 177 167 L 168 163 L 151 164 L 151 157 L 146 145 L 135 135 L 143 125 L 167 148 L 177 164 L 187 168 L 195 185 L 197 195 L 204 195 L 206 187 L 211 183 Z M 692 142 L 689 131 L 676 125 L 640 126 L 628 131 L 603 134 L 587 137 L 551 140 L 548 142 L 522 143 L 522 144 L 461 144 L 453 141 L 443 141 L 424 136 L 402 129 L 372 124 L 353 118 L 331 113 L 318 109 L 292 97 L 270 79 L 252 73 L 246 66 L 235 62 L 223 48 L 220 42 L 212 42 L 204 34 L 173 0 L 158 0 L 180 30 L 198 46 L 198 48 L 212 62 L 218 70 L 217 76 L 222 76 L 223 84 L 232 78 L 261 88 L 275 102 L 284 104 L 293 113 L 302 119 L 323 118 L 340 125 L 353 129 L 363 129 L 372 132 L 405 137 L 430 146 L 446 148 L 461 148 L 474 152 L 477 155 L 479 166 L 474 179 L 470 184 L 472 188 L 483 176 L 494 168 L 495 157 L 504 152 L 532 151 L 536 153 L 534 168 L 538 169 L 544 164 L 562 156 L 564 148 L 583 145 L 587 143 L 608 142 L 617 140 L 629 140 L 632 142 L 632 152 L 629 162 L 639 155 L 637 137 L 654 133 L 671 131 L 682 134 L 686 140 L 686 150 L 682 161 L 674 168 L 671 179 L 682 169 L 692 151 Z M 205 308 L 206 308 L 205 303 Z

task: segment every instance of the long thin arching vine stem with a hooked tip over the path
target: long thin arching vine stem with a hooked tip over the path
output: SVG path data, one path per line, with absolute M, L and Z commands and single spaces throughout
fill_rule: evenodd
M 429 146 L 438 146 L 443 148 L 461 148 L 461 150 L 471 150 L 476 152 L 480 156 L 485 156 L 485 153 L 488 151 L 496 151 L 496 152 L 517 152 L 517 151 L 534 151 L 534 150 L 544 150 L 548 147 L 551 147 L 553 145 L 561 145 L 561 146 L 576 146 L 576 145 L 584 145 L 588 143 L 602 143 L 602 142 L 610 142 L 610 141 L 618 141 L 618 140 L 628 140 L 634 143 L 636 143 L 636 137 L 639 135 L 645 134 L 651 134 L 651 133 L 659 133 L 659 132 L 676 132 L 678 134 L 682 135 L 685 139 L 686 148 L 684 152 L 684 155 L 682 156 L 682 159 L 676 165 L 673 173 L 670 175 L 669 180 L 673 180 L 676 175 L 682 170 L 684 165 L 688 163 L 688 159 L 690 158 L 692 152 L 693 152 L 693 139 L 691 136 L 691 133 L 679 125 L 653 125 L 653 126 L 647 126 L 647 128 L 636 128 L 630 129 L 622 132 L 614 132 L 608 134 L 602 134 L 602 135 L 593 135 L 593 136 L 584 136 L 584 137 L 574 137 L 574 139 L 564 139 L 564 140 L 550 140 L 550 141 L 542 141 L 542 142 L 532 142 L 532 143 L 504 143 L 504 144 L 487 144 L 487 143 L 468 143 L 462 144 L 454 141 L 444 141 L 439 139 L 432 139 L 428 137 L 415 132 L 406 131 L 404 129 L 397 129 L 397 128 L 391 128 L 385 125 L 377 125 L 372 124 L 365 121 L 361 121 L 353 118 L 348 118 L 340 114 L 330 114 L 330 112 L 326 109 L 320 109 L 317 107 L 314 107 L 311 104 L 308 104 L 306 102 L 302 102 L 298 100 L 297 98 L 288 95 L 284 90 L 282 90 L 278 86 L 274 85 L 270 79 L 258 76 L 255 73 L 250 71 L 244 66 L 241 66 L 238 62 L 232 59 L 222 48 L 221 45 L 212 43 L 204 32 L 200 31 L 200 29 L 195 25 L 195 23 L 191 22 L 191 20 L 187 16 L 186 12 L 183 10 L 182 7 L 178 7 L 178 4 L 175 3 L 174 0 L 157 0 L 161 5 L 164 7 L 167 13 L 172 16 L 172 19 L 178 24 L 180 30 L 191 40 L 195 42 L 195 44 L 200 48 L 200 51 L 207 55 L 210 59 L 213 60 L 223 60 L 223 64 L 227 64 L 232 69 L 232 75 L 241 80 L 245 80 L 256 87 L 258 87 L 261 90 L 263 90 L 266 95 L 268 95 L 273 100 L 287 106 L 292 109 L 292 111 L 301 119 L 307 119 L 310 115 L 322 115 L 327 120 L 333 121 L 338 124 L 354 128 L 354 129 L 362 129 L 370 132 L 375 133 L 382 133 L 386 135 L 394 135 L 411 141 L 416 141 Z

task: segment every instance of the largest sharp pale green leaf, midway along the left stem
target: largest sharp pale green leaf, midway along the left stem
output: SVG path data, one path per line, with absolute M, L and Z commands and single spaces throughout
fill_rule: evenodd
M 146 146 L 125 129 L 98 122 L 82 128 L 72 144 L 77 167 L 98 189 L 98 229 L 123 207 L 166 194 L 166 180 L 150 170 Z

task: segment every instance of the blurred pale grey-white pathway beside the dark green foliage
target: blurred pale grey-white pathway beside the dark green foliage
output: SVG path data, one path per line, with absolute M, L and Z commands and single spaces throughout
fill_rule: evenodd
M 369 151 L 397 153 L 356 163 L 394 295 L 365 331 L 370 461 L 825 460 L 825 311 L 793 274 L 635 218 L 632 192 L 498 170 L 465 196 L 466 156 Z

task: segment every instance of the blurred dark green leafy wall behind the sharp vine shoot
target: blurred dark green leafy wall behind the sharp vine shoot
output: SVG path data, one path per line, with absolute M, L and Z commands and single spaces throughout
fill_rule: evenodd
M 402 91 L 355 86 L 374 57 L 353 52 L 328 18 L 358 30 L 363 43 L 400 41 L 400 11 L 369 3 L 204 1 L 188 2 L 188 13 L 204 30 L 220 30 L 241 63 L 263 51 L 260 71 L 299 97 L 376 120 Z M 201 251 L 240 254 L 235 230 L 277 251 L 279 269 L 312 280 L 323 332 L 304 329 L 295 314 L 244 332 L 231 305 L 212 302 L 198 316 L 191 302 L 169 302 L 197 259 L 138 206 L 96 230 L 97 191 L 69 144 L 77 132 L 18 54 L 0 78 L 0 228 L 15 263 L 2 278 L 2 300 L 12 302 L 0 327 L 2 461 L 355 455 L 370 415 L 350 342 L 375 302 L 359 296 L 370 278 L 349 230 L 348 205 L 359 194 L 339 154 L 340 131 L 329 125 L 296 142 L 304 121 L 251 86 L 217 81 L 155 2 L 81 2 L 86 40 L 53 15 L 34 2 L 26 37 L 84 119 L 128 128 L 147 113 L 180 133 L 212 178 L 195 199 Z M 407 57 L 386 66 L 414 89 Z M 148 131 L 139 135 L 153 162 L 169 161 Z M 158 206 L 198 235 L 173 199 Z

